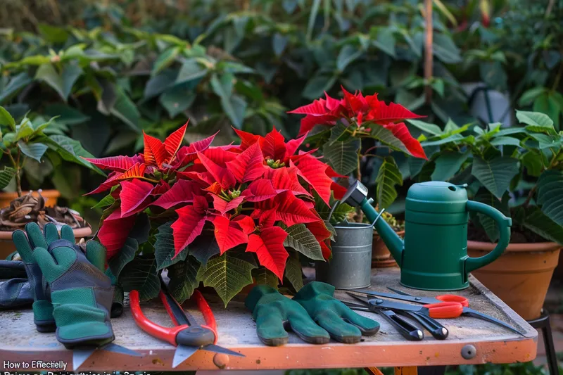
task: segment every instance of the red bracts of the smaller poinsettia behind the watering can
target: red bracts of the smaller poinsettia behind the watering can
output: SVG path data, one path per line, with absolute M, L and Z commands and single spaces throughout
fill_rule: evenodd
M 307 106 L 289 111 L 289 113 L 305 115 L 301 120 L 299 135 L 307 134 L 316 125 L 331 127 L 336 125 L 337 121 L 342 121 L 347 126 L 355 125 L 360 128 L 369 127 L 366 125 L 367 122 L 391 130 L 410 155 L 426 159 L 424 149 L 419 141 L 412 137 L 403 122 L 424 116 L 416 115 L 400 104 L 386 104 L 377 98 L 377 94 L 363 96 L 360 91 L 351 94 L 343 87 L 342 91 L 344 97 L 340 100 L 331 98 L 325 92 L 324 99 L 320 98 Z M 370 130 L 365 129 L 365 132 Z

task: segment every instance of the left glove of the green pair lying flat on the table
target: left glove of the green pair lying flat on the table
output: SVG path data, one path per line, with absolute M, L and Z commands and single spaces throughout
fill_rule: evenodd
M 329 333 L 317 326 L 301 305 L 271 286 L 255 286 L 244 305 L 251 310 L 258 338 L 266 345 L 286 344 L 289 339 L 286 329 L 291 329 L 308 343 L 324 344 L 330 340 Z

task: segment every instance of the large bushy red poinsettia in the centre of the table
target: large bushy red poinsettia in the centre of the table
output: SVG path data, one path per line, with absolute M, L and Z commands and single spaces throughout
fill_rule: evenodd
M 334 229 L 315 202 L 326 208 L 342 196 L 334 178 L 343 176 L 298 151 L 305 136 L 235 130 L 236 146 L 211 146 L 215 135 L 182 146 L 186 127 L 165 141 L 145 134 L 132 157 L 88 159 L 111 171 L 91 193 L 108 191 L 97 236 L 114 276 L 150 299 L 166 269 L 180 302 L 203 281 L 225 305 L 253 281 L 301 288 L 299 255 L 331 255 Z

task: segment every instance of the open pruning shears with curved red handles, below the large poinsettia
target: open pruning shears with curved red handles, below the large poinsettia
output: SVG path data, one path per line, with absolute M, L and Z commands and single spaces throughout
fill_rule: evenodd
M 163 285 L 163 288 L 164 287 Z M 153 337 L 160 338 L 160 340 L 167 341 L 177 346 L 174 360 L 172 360 L 172 368 L 177 367 L 200 349 L 244 357 L 244 355 L 239 352 L 234 352 L 233 350 L 216 345 L 217 323 L 215 322 L 211 307 L 209 307 L 207 301 L 199 291 L 194 291 L 194 294 L 191 295 L 191 300 L 198 305 L 198 309 L 205 319 L 205 324 L 196 323 L 196 319 L 191 316 L 189 312 L 184 311 L 167 291 L 161 290 L 158 296 L 160 300 L 162 300 L 170 319 L 172 319 L 172 322 L 176 326 L 160 326 L 148 320 L 143 312 L 141 312 L 138 291 L 131 291 L 129 293 L 129 303 L 131 304 L 133 318 L 143 331 Z

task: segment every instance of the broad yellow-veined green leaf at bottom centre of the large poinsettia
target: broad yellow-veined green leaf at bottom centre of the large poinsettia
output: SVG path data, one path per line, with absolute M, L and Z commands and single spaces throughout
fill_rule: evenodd
M 250 262 L 230 255 L 229 251 L 223 255 L 210 259 L 202 266 L 197 279 L 203 281 L 204 286 L 211 286 L 227 307 L 227 303 L 242 291 L 242 288 L 252 284 L 252 270 L 256 268 Z

